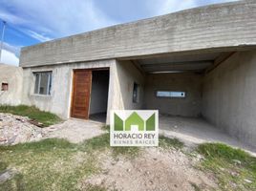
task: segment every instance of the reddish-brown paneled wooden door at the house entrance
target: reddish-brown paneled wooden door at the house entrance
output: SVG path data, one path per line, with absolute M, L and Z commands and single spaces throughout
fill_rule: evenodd
M 92 87 L 92 71 L 74 72 L 71 117 L 89 118 L 89 107 Z

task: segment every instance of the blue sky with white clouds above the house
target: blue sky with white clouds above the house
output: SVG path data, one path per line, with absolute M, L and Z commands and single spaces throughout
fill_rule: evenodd
M 18 65 L 21 47 L 121 23 L 234 0 L 0 0 L 2 63 Z

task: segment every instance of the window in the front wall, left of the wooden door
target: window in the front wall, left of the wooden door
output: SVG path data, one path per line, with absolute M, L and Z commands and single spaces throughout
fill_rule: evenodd
M 52 72 L 34 73 L 34 94 L 51 95 Z

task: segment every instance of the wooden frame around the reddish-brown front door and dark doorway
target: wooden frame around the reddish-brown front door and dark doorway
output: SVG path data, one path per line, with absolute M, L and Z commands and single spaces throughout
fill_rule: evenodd
M 90 86 L 90 97 L 89 97 L 89 104 L 88 104 L 88 119 L 90 116 L 90 105 L 91 105 L 91 94 L 92 94 L 92 82 L 93 82 L 93 72 L 94 71 L 109 71 L 109 79 L 110 79 L 110 67 L 100 67 L 100 68 L 88 68 L 88 69 L 73 69 L 72 71 L 72 92 L 71 92 L 71 108 L 70 108 L 70 117 L 72 117 L 73 114 L 73 109 L 74 109 L 74 100 L 75 100 L 75 72 L 76 71 L 90 71 L 92 73 L 92 77 L 91 77 L 91 86 Z M 110 84 L 109 84 L 110 86 Z M 108 87 L 109 90 L 109 87 Z M 77 118 L 77 117 L 73 117 L 73 118 Z M 88 120 L 86 118 L 80 118 L 80 119 L 84 119 L 84 120 Z

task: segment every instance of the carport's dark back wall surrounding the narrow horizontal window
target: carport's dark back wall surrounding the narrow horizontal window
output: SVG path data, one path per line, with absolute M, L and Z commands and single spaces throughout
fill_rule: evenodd
M 202 75 L 148 74 L 146 76 L 144 108 L 157 109 L 160 114 L 199 117 L 202 102 Z M 185 98 L 157 97 L 157 91 L 185 92 Z

